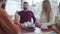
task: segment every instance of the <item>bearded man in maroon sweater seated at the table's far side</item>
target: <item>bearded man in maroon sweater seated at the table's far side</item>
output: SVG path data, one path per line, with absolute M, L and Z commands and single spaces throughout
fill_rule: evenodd
M 23 10 L 18 12 L 18 15 L 20 15 L 20 23 L 31 23 L 31 18 L 33 18 L 33 23 L 36 22 L 36 18 L 32 11 L 28 10 L 29 4 L 27 2 L 23 3 Z

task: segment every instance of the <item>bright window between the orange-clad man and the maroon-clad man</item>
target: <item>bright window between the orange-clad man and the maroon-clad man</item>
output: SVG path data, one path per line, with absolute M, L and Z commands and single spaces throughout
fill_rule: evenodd
M 6 11 L 9 15 L 14 15 L 19 10 L 21 10 L 21 0 L 7 0 Z

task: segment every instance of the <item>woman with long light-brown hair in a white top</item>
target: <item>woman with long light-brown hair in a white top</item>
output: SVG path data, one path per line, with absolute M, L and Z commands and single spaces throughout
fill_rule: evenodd
M 54 13 L 52 12 L 49 0 L 44 0 L 42 3 L 42 12 L 40 15 L 40 23 L 42 25 L 51 26 L 54 24 Z

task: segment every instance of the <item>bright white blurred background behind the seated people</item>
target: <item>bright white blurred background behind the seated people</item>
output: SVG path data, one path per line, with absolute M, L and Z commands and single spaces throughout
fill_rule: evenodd
M 22 10 L 22 3 L 25 1 L 29 3 L 29 9 L 33 11 L 36 19 L 39 20 L 43 0 L 7 0 L 6 11 L 11 16 L 11 18 L 14 19 L 15 12 Z M 51 3 L 52 11 L 54 11 L 55 16 L 57 16 L 58 5 L 60 0 L 49 0 L 49 1 Z

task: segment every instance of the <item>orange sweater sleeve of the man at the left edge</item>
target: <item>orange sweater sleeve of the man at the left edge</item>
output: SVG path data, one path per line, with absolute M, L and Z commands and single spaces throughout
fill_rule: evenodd
M 8 13 L 5 10 L 0 9 L 0 15 L 2 15 L 0 16 L 0 22 L 1 22 L 1 26 L 3 27 L 3 29 L 7 33 L 12 34 L 13 32 L 15 32 L 15 34 L 17 34 L 19 30 L 19 26 L 16 24 L 13 24 L 13 21 L 11 20 Z

